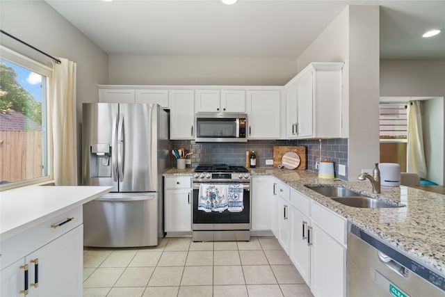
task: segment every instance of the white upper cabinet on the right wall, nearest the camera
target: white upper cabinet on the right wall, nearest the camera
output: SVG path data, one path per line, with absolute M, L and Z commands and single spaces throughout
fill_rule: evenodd
M 286 84 L 286 138 L 341 137 L 342 68 L 311 63 Z

